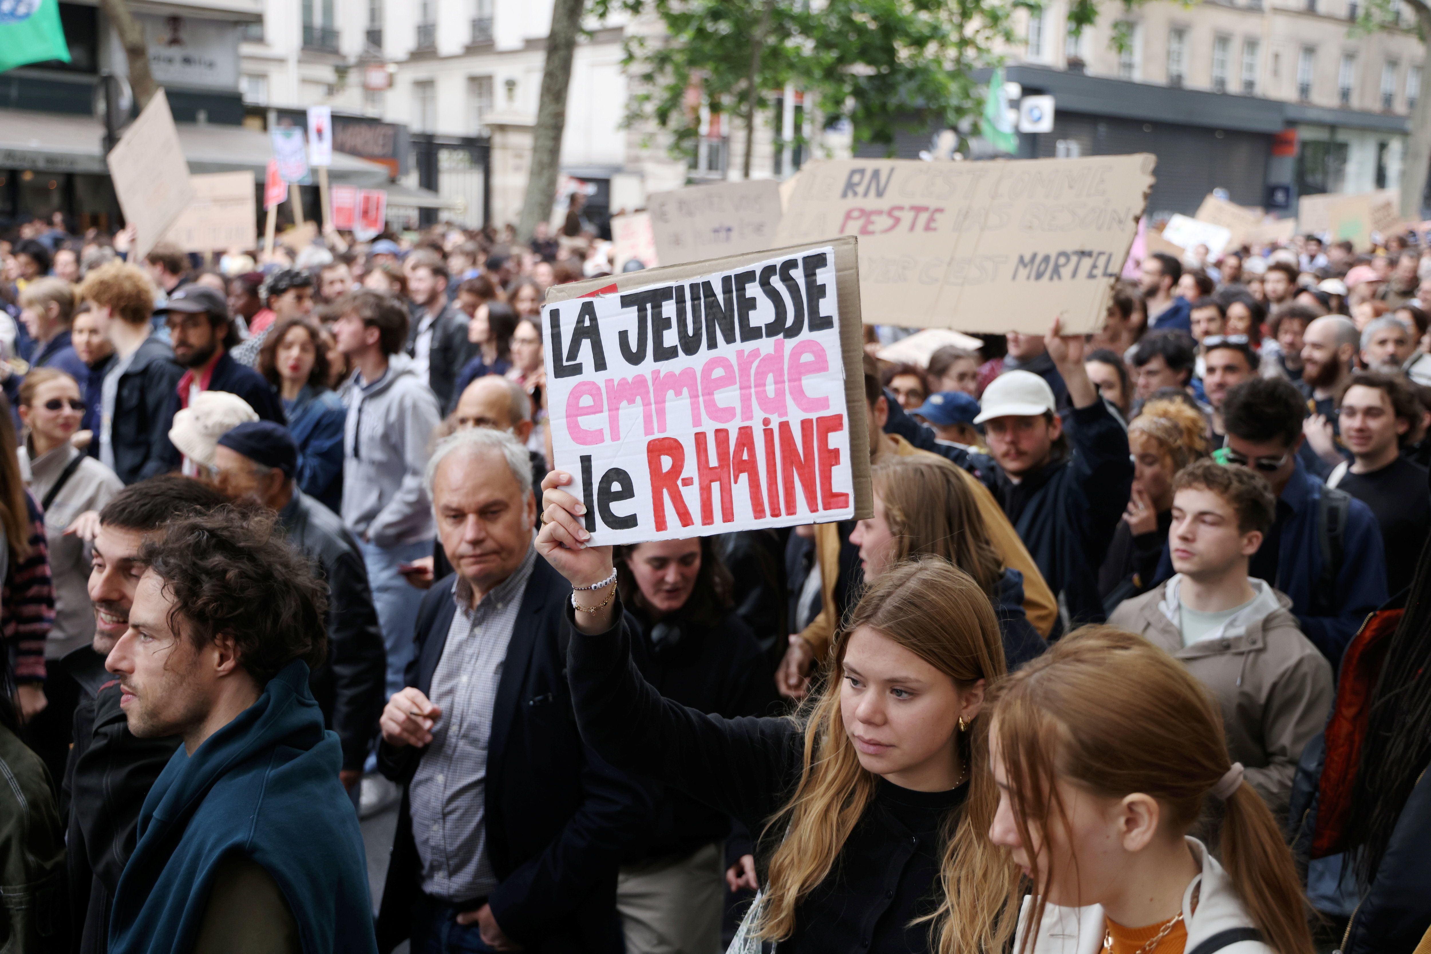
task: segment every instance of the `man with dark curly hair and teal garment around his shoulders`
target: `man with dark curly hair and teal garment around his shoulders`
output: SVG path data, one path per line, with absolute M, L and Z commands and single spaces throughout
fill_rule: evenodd
M 376 951 L 338 737 L 308 689 L 326 586 L 268 515 L 146 541 L 106 668 L 139 738 L 176 735 L 114 892 L 112 954 Z

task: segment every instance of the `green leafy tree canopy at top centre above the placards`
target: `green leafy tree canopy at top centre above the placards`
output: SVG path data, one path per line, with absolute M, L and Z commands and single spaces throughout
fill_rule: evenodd
M 1090 0 L 1089 0 L 1090 1 Z M 746 127 L 743 167 L 771 92 L 794 83 L 824 126 L 849 122 L 857 144 L 892 150 L 902 124 L 956 126 L 982 107 L 975 70 L 1016 43 L 1013 14 L 1033 0 L 597 0 L 594 11 L 655 16 L 663 31 L 627 40 L 638 89 L 631 119 L 694 153 L 700 112 Z

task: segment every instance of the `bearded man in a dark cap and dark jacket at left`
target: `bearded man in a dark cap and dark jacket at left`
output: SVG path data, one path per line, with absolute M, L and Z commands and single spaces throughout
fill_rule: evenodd
M 155 312 L 166 315 L 175 360 L 189 370 L 169 395 L 160 421 L 167 433 L 180 408 L 205 390 L 226 390 L 242 398 L 260 421 L 286 423 L 283 403 L 263 376 L 233 360 L 229 348 L 235 345 L 229 306 L 223 296 L 202 285 L 185 285 L 169 296 L 169 302 Z M 165 463 L 177 469 L 183 463 L 179 449 L 169 443 Z

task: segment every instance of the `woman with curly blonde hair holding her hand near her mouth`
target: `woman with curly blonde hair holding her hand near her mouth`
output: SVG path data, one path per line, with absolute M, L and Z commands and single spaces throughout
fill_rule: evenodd
M 1128 425 L 1128 448 L 1133 493 L 1098 571 L 1098 592 L 1108 612 L 1152 588 L 1172 526 L 1172 479 L 1208 456 L 1208 419 L 1191 402 L 1153 398 Z

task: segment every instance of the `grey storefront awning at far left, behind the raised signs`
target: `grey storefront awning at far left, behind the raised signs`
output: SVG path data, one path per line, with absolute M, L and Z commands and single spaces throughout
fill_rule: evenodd
M 268 133 L 213 123 L 179 123 L 177 129 L 189 172 L 250 172 L 255 183 L 263 182 L 273 157 Z M 0 109 L 0 169 L 109 174 L 103 137 L 103 126 L 90 116 Z M 444 209 L 452 205 L 429 189 L 392 183 L 385 166 L 348 153 L 333 153 L 328 180 L 382 189 L 388 203 L 395 206 Z

